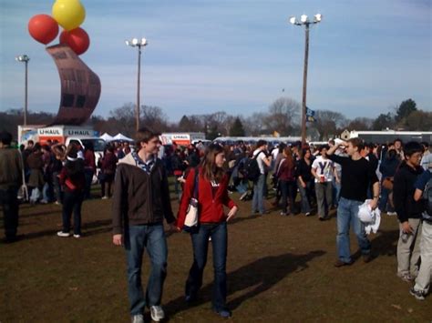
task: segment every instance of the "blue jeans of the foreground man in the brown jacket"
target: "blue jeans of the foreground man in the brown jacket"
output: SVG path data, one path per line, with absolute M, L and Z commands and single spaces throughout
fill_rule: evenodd
M 167 277 L 167 239 L 163 226 L 129 226 L 125 233 L 125 249 L 128 262 L 128 290 L 130 314 L 144 312 L 146 304 L 150 307 L 160 305 L 163 282 Z M 144 249 L 151 262 L 149 282 L 144 297 L 141 284 L 141 266 Z

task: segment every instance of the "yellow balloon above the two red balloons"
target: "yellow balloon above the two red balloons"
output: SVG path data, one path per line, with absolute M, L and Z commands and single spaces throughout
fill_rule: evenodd
M 79 0 L 57 0 L 52 14 L 58 25 L 67 31 L 77 28 L 86 18 L 86 9 Z

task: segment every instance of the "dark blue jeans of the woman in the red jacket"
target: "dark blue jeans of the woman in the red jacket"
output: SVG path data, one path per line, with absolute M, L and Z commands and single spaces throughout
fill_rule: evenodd
M 211 303 L 214 309 L 221 311 L 226 309 L 227 298 L 227 224 L 226 222 L 215 224 L 201 224 L 198 231 L 190 234 L 193 247 L 193 264 L 190 267 L 189 277 L 186 281 L 185 293 L 192 298 L 196 297 L 202 285 L 202 273 L 207 263 L 209 250 L 209 237 L 211 237 L 211 249 L 213 251 L 213 293 Z

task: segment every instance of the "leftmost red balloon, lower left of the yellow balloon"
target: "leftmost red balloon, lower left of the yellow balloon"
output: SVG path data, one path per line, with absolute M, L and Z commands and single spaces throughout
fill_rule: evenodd
M 58 24 L 50 15 L 34 15 L 28 21 L 28 32 L 39 43 L 46 45 L 57 37 Z

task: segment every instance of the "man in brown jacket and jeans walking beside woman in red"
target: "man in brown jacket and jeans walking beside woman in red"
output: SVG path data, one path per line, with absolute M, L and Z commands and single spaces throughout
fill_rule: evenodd
M 170 190 L 165 168 L 157 155 L 159 134 L 141 128 L 137 150 L 118 162 L 113 197 L 113 243 L 124 244 L 128 259 L 129 302 L 132 322 L 144 321 L 146 305 L 151 318 L 165 317 L 160 307 L 163 282 L 167 275 L 167 241 L 163 219 L 175 231 L 170 205 Z M 151 271 L 144 296 L 141 265 L 147 249 Z

